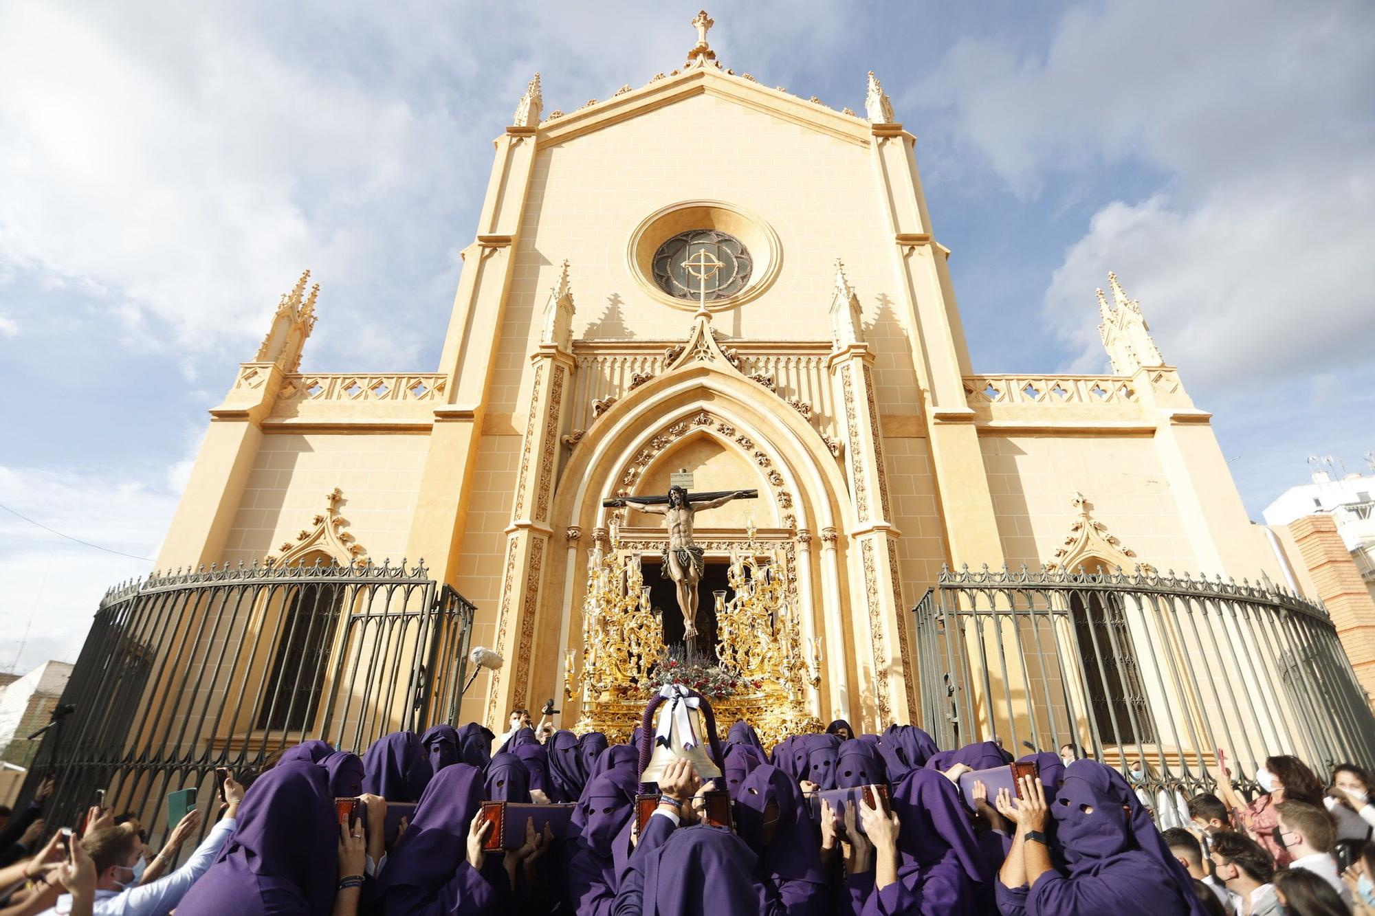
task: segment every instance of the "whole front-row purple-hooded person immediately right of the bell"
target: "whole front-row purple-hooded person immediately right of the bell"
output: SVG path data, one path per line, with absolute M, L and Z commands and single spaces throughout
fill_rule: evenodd
M 760 765 L 745 776 L 736 795 L 736 828 L 759 857 L 754 877 L 770 899 L 789 916 L 821 916 L 829 909 L 820 835 L 802 789 L 786 773 Z

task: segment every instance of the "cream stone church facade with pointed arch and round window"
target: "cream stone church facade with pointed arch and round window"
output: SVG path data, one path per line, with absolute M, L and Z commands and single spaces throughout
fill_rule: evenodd
M 351 543 L 424 557 L 477 605 L 473 642 L 506 666 L 462 718 L 494 726 L 562 693 L 601 501 L 661 492 L 679 468 L 759 490 L 698 539 L 720 557 L 754 521 L 793 545 L 803 631 L 825 642 L 813 710 L 862 730 L 916 717 L 908 609 L 942 565 L 1056 563 L 1079 494 L 1122 552 L 1075 561 L 1280 580 L 1209 414 L 1115 278 L 1101 318 L 1119 374 L 974 373 L 916 139 L 872 74 L 868 117 L 703 54 L 542 109 L 536 77 L 495 140 L 436 371 L 298 371 L 302 279 L 212 411 L 161 567 L 280 556 L 338 488 Z M 755 257 L 705 316 L 644 275 L 692 228 Z M 661 538 L 628 523 L 630 541 Z

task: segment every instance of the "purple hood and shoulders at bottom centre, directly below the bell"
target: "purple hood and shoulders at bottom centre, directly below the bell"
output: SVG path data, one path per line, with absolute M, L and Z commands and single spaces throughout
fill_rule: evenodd
M 670 829 L 652 817 L 626 880 L 616 916 L 782 916 L 784 906 L 754 879 L 755 854 L 716 827 Z

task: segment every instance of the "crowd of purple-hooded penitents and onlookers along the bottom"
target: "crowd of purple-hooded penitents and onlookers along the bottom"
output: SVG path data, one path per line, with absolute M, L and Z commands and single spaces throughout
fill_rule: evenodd
M 998 743 L 940 750 L 914 726 L 855 734 L 837 721 L 764 748 L 736 722 L 694 754 L 676 736 L 645 784 L 652 747 L 670 745 L 653 728 L 646 714 L 610 744 L 517 710 L 500 737 L 436 725 L 362 758 L 305 741 L 248 788 L 217 773 L 217 820 L 179 866 L 199 810 L 155 854 L 138 818 L 99 807 L 40 847 L 44 784 L 4 811 L 0 916 L 1375 916 L 1375 806 L 1353 765 L 1324 787 L 1299 759 L 1268 758 L 1254 799 L 1233 788 L 1248 778 L 1216 773 L 1217 794 L 1187 799 L 1173 825 L 1130 763 L 1074 745 L 1023 756 L 1035 769 L 1015 767 L 1011 791 L 967 780 L 971 800 L 962 776 L 1013 762 Z M 857 792 L 843 811 L 813 805 L 830 789 Z M 725 821 L 711 813 L 722 792 Z M 507 822 L 516 839 L 494 853 L 484 800 L 571 813 L 558 829 Z

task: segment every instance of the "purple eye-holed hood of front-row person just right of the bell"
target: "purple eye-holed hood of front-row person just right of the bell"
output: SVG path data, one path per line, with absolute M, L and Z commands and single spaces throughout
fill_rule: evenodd
M 776 807 L 778 821 L 771 842 L 766 844 L 764 821 L 770 805 Z M 798 784 L 777 766 L 759 765 L 741 781 L 736 796 L 736 829 L 759 855 L 756 877 L 826 884 L 807 802 Z

